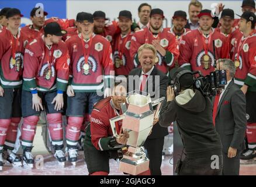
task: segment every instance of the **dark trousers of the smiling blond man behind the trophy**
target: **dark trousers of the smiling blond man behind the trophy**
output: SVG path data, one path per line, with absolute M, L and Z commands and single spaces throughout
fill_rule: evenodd
M 164 137 L 148 139 L 144 143 L 150 160 L 151 175 L 161 175 L 162 149 L 164 148 Z

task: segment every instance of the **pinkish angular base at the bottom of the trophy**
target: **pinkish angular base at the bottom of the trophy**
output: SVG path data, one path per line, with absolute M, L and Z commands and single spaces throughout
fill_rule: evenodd
M 137 164 L 137 162 L 128 160 L 127 158 L 122 158 L 119 164 L 119 171 L 122 171 L 130 175 L 139 175 L 142 172 L 147 171 L 148 168 L 149 168 L 148 158 L 146 158 L 146 160 L 144 160 L 140 164 Z

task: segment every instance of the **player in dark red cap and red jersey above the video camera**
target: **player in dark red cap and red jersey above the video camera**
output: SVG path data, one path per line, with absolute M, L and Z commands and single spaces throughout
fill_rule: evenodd
M 199 28 L 188 32 L 180 43 L 178 64 L 192 71 L 209 75 L 215 70 L 213 40 L 215 40 L 216 60 L 229 57 L 226 37 L 212 28 L 214 22 L 210 10 L 202 10 L 199 15 Z

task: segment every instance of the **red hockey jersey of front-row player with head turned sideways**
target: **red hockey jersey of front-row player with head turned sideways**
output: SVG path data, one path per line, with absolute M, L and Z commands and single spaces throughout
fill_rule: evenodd
M 69 77 L 70 58 L 64 41 L 51 48 L 39 36 L 27 44 L 24 55 L 23 89 L 47 92 L 57 88 L 66 91 Z

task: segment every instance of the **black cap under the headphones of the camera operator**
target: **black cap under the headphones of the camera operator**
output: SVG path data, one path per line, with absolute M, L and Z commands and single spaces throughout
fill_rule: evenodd
M 169 72 L 171 79 L 174 80 L 175 77 L 177 76 L 177 74 L 184 70 L 189 71 L 188 69 L 181 68 L 181 67 L 172 68 L 172 70 Z M 191 74 L 184 74 L 181 77 L 179 77 L 179 85 L 181 85 L 181 87 L 183 87 L 183 88 L 189 88 L 190 86 L 192 86 L 193 85 L 192 72 L 191 72 Z

